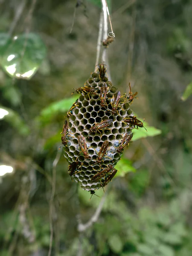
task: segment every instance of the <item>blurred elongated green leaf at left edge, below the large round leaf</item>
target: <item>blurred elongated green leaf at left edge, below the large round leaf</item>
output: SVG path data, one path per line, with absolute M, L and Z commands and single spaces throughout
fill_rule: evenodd
M 0 107 L 0 111 L 4 110 L 4 113 L 6 111 L 6 114 L 2 117 L 4 120 L 9 122 L 13 127 L 17 129 L 17 131 L 21 135 L 28 135 L 30 130 L 29 127 L 26 125 L 24 120 L 17 114 L 17 112 L 13 111 L 10 108 Z M 1 111 L 2 112 L 2 111 Z

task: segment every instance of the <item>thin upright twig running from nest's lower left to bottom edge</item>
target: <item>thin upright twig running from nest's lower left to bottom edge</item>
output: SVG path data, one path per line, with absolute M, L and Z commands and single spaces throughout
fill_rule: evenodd
M 56 181 L 56 166 L 58 164 L 58 161 L 61 157 L 62 151 L 57 151 L 57 155 L 55 157 L 55 160 L 52 163 L 52 191 L 51 191 L 51 198 L 49 201 L 49 227 L 50 227 L 50 241 L 49 241 L 49 252 L 48 256 L 51 256 L 51 250 L 52 250 L 52 238 L 53 238 L 53 225 L 52 225 L 52 211 L 53 211 L 53 200 L 55 196 L 55 181 Z

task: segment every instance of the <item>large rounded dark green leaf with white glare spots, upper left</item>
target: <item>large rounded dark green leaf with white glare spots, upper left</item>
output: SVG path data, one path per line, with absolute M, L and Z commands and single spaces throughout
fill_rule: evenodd
M 46 56 L 46 47 L 35 33 L 9 38 L 0 33 L 0 64 L 11 77 L 30 79 Z

